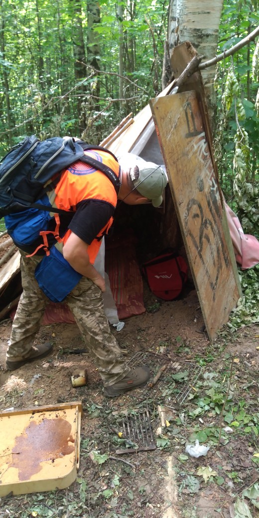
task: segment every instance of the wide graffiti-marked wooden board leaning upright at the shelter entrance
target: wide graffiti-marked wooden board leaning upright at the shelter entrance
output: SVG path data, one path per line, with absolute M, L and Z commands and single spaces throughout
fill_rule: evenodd
M 222 228 L 223 209 L 195 92 L 151 99 L 168 181 L 210 340 L 239 287 Z

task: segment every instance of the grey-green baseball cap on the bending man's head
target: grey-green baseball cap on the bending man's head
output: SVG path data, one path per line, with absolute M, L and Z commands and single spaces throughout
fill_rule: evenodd
M 153 162 L 136 161 L 135 165 L 132 164 L 130 175 L 136 190 L 145 198 L 151 199 L 153 207 L 160 207 L 167 184 L 167 176 L 162 167 Z

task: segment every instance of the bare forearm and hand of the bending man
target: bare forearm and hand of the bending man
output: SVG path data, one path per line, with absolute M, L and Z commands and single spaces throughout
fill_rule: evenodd
M 66 261 L 79 274 L 91 279 L 102 292 L 105 292 L 105 280 L 89 261 L 88 244 L 71 232 L 63 247 Z

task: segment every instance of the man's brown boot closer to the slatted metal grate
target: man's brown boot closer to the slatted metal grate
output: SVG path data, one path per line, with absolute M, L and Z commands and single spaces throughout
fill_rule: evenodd
M 131 369 L 127 373 L 125 378 L 117 381 L 113 385 L 106 386 L 104 388 L 104 395 L 107 397 L 116 397 L 124 394 L 128 390 L 137 389 L 145 385 L 150 378 L 150 370 L 148 367 L 138 367 L 137 369 Z

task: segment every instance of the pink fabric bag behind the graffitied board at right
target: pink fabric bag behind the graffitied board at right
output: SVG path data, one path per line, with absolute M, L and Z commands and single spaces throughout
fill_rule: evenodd
M 235 252 L 236 262 L 241 265 L 242 270 L 252 268 L 259 263 L 259 241 L 250 234 L 244 234 L 240 221 L 224 201 L 227 223 Z

